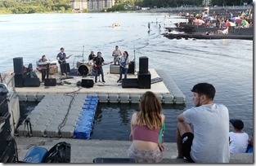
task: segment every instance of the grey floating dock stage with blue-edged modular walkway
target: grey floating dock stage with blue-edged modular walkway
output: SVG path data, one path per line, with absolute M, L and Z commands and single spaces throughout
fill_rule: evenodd
M 19 101 L 39 102 L 28 118 L 15 129 L 16 135 L 88 139 L 97 103 L 140 103 L 141 95 L 148 90 L 157 94 L 160 103 L 186 102 L 185 95 L 178 89 L 168 72 L 156 71 L 154 68 L 149 68 L 149 72 L 152 82 L 150 89 L 123 88 L 122 83 L 117 82 L 119 74 L 110 73 L 108 68 L 104 68 L 106 82 L 98 79 L 91 88 L 84 88 L 79 84 L 83 79 L 94 81 L 94 76 L 70 76 L 69 79 L 63 79 L 60 73 L 49 76 L 56 78 L 55 86 L 45 86 L 41 83 L 38 87 L 13 87 L 10 84 L 14 82 L 13 71 L 5 72 L 3 83 L 14 89 L 13 93 Z M 41 79 L 40 72 L 37 72 L 37 75 Z M 128 78 L 136 79 L 137 72 L 129 73 Z M 32 129 L 29 129 L 30 124 Z

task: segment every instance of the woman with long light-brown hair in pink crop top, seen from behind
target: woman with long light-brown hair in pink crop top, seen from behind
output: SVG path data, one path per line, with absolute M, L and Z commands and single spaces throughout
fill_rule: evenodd
M 142 94 L 139 111 L 132 114 L 132 145 L 128 148 L 128 157 L 137 163 L 159 163 L 163 158 L 164 145 L 159 142 L 160 129 L 165 116 L 156 94 L 146 91 Z

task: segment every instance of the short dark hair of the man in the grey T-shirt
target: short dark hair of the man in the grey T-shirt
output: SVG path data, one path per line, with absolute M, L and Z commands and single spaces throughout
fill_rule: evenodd
M 213 85 L 211 85 L 209 83 L 198 83 L 198 84 L 194 85 L 191 92 L 195 92 L 200 95 L 204 94 L 207 96 L 207 98 L 213 100 L 216 90 L 213 87 Z

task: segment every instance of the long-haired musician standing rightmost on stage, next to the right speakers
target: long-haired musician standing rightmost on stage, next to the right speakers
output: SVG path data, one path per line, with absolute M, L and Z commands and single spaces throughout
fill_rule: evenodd
M 128 52 L 125 50 L 123 56 L 120 59 L 120 68 L 119 68 L 119 81 L 122 81 L 122 76 L 124 72 L 124 79 L 127 78 L 128 68 L 129 68 L 130 58 Z

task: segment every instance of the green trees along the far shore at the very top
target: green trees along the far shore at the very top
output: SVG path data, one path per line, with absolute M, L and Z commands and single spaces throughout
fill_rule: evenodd
M 96 0 L 88 0 L 96 1 Z M 115 0 L 107 11 L 124 11 L 125 6 L 139 7 L 200 7 L 204 0 Z M 0 14 L 29 14 L 44 12 L 71 12 L 70 0 L 0 0 Z M 211 0 L 210 6 L 240 6 L 253 0 Z

